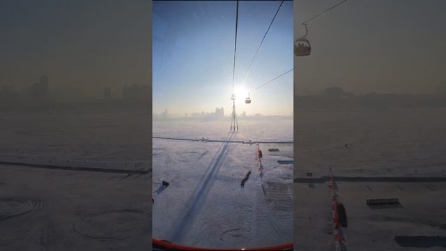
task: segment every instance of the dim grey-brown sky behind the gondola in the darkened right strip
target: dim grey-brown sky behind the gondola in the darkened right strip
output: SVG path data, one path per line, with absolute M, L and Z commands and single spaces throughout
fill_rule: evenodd
M 304 20 L 339 0 L 296 0 Z M 349 0 L 309 23 L 312 55 L 295 59 L 296 93 L 431 93 L 446 79 L 446 1 Z

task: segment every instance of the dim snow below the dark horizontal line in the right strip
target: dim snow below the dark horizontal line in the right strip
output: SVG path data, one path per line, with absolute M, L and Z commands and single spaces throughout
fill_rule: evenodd
M 445 183 L 342 182 L 338 195 L 346 208 L 342 232 L 348 250 L 445 250 L 401 247 L 395 236 L 446 236 Z M 295 250 L 335 250 L 328 183 L 294 184 Z M 398 198 L 401 207 L 373 209 L 367 199 Z M 426 243 L 429 244 L 429 243 Z

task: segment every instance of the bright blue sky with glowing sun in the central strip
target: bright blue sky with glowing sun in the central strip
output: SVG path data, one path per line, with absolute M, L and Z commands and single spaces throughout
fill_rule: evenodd
M 252 89 L 293 68 L 293 2 L 285 1 L 251 70 L 254 56 L 280 1 L 240 1 L 236 89 Z M 236 1 L 153 2 L 153 111 L 170 114 L 231 113 Z M 241 114 L 293 112 L 293 74 L 237 96 Z

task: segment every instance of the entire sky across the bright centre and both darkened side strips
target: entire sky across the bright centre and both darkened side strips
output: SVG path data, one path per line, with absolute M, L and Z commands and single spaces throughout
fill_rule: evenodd
M 297 35 L 303 32 L 303 20 L 337 2 L 294 1 Z M 49 75 L 50 89 L 79 86 L 98 95 L 105 85 L 112 86 L 116 96 L 125 84 L 150 84 L 151 4 L 0 1 L 0 86 L 26 86 L 43 73 Z M 279 1 L 240 2 L 236 81 L 278 5 Z M 246 88 L 293 68 L 292 5 L 285 2 L 277 15 L 247 75 Z M 228 114 L 235 1 L 153 6 L 155 112 L 174 112 L 187 104 L 189 113 L 223 106 Z M 312 55 L 295 59 L 296 92 L 317 93 L 328 86 L 357 93 L 433 91 L 446 79 L 444 10 L 443 0 L 347 1 L 309 24 Z M 253 92 L 252 105 L 240 105 L 240 112 L 288 113 L 290 80 L 291 74 Z

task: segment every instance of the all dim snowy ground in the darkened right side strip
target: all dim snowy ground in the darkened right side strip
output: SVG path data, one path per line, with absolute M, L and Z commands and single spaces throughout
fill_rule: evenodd
M 444 114 L 443 107 L 298 112 L 295 178 L 311 178 L 307 172 L 312 178 L 328 176 L 329 167 L 334 176 L 446 177 Z M 334 250 L 328 185 L 294 184 L 295 250 Z M 394 237 L 446 236 L 445 182 L 344 181 L 337 186 L 348 217 L 342 229 L 348 250 L 425 250 L 402 247 Z M 401 207 L 367 206 L 367 199 L 378 198 L 398 198 Z

